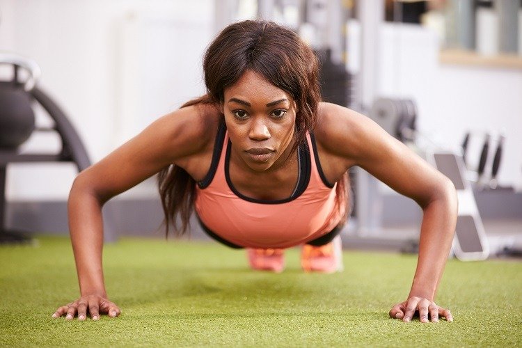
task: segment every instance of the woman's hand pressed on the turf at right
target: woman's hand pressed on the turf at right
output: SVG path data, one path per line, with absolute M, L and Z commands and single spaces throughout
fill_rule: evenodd
M 438 322 L 439 317 L 445 317 L 447 322 L 452 322 L 450 310 L 437 306 L 434 301 L 418 296 L 411 296 L 408 300 L 397 303 L 390 310 L 390 317 L 402 319 L 403 322 L 411 322 L 413 315 L 418 313 L 420 322 Z

